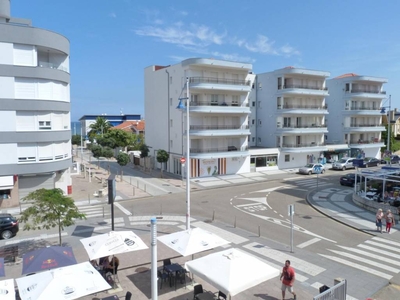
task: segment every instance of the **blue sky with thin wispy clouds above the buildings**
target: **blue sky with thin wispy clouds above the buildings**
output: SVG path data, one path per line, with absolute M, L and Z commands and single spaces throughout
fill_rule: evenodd
M 395 0 L 11 0 L 12 17 L 71 43 L 71 121 L 145 118 L 144 69 L 193 57 L 251 63 L 256 74 L 294 66 L 384 77 L 394 109 L 399 10 Z

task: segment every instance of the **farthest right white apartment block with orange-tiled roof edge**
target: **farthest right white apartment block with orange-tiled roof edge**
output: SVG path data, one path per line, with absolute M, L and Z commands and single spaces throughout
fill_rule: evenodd
M 329 88 L 328 141 L 348 144 L 350 155 L 380 158 L 385 145 L 381 139 L 381 107 L 386 99 L 385 78 L 344 74 L 327 80 Z

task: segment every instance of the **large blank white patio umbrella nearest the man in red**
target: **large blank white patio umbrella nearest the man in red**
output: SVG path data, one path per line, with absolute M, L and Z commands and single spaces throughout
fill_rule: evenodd
M 229 297 L 280 273 L 258 258 L 234 248 L 189 261 L 185 268 Z

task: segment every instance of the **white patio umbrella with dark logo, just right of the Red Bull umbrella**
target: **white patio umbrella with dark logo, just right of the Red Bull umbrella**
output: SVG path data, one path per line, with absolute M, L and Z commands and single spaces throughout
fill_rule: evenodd
M 90 260 L 148 249 L 146 244 L 133 231 L 110 231 L 108 233 L 81 239 Z

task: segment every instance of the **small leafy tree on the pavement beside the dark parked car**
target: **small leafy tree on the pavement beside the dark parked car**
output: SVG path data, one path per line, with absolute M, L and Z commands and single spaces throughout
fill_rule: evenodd
M 64 196 L 61 189 L 39 189 L 22 198 L 31 206 L 21 213 L 20 222 L 24 230 L 49 230 L 58 226 L 58 236 L 61 246 L 61 231 L 75 224 L 75 219 L 86 219 L 79 212 L 72 198 Z

